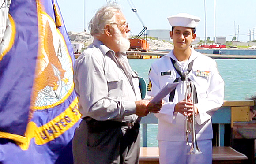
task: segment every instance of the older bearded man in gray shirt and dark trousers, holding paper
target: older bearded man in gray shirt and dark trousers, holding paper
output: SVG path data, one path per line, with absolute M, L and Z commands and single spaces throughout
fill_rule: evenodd
M 75 164 L 139 163 L 140 116 L 162 102 L 141 100 L 138 75 L 125 51 L 128 23 L 120 8 L 100 8 L 90 21 L 93 43 L 75 63 L 75 91 L 82 122 L 75 130 Z

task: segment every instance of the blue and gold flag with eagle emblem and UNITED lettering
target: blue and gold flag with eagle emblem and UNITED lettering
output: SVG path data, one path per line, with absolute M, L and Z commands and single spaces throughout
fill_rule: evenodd
M 56 0 L 11 1 L 0 44 L 0 163 L 73 163 L 74 61 Z

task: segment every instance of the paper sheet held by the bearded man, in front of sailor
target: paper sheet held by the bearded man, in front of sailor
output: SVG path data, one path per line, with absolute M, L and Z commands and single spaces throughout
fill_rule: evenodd
M 172 92 L 173 89 L 175 89 L 178 84 L 179 84 L 179 82 L 166 83 L 166 85 L 164 87 L 162 87 L 162 89 L 160 89 L 159 92 L 154 96 L 154 98 L 151 100 L 151 102 L 158 103 L 164 97 L 166 97 L 167 94 Z

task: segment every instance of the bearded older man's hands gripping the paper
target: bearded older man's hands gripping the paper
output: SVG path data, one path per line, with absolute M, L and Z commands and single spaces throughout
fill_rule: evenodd
M 157 104 L 150 103 L 149 100 L 135 101 L 136 104 L 136 115 L 144 117 L 149 112 L 156 113 L 162 107 L 163 101 L 159 101 Z

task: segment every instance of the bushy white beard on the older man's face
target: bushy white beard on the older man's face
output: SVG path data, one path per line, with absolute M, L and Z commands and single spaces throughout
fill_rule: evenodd
M 115 28 L 115 42 L 119 48 L 119 52 L 124 53 L 130 48 L 130 41 L 127 37 L 123 37 L 121 31 L 116 27 Z

